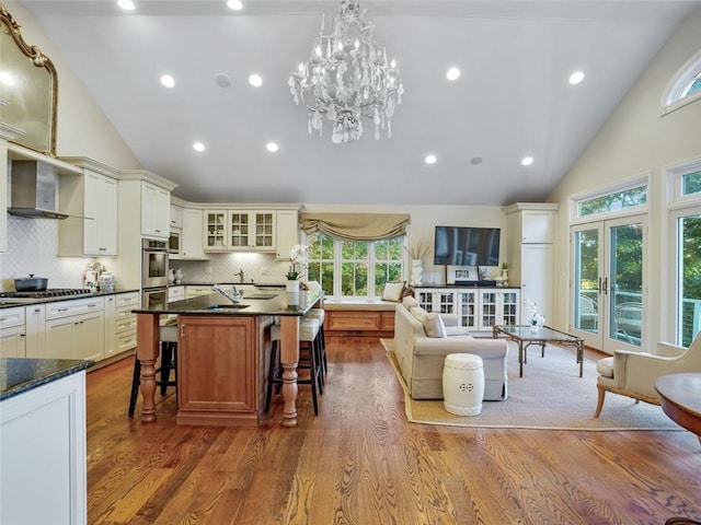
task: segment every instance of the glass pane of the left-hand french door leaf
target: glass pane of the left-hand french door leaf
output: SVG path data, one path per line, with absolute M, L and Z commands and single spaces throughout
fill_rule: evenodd
M 599 231 L 575 232 L 574 327 L 598 332 Z

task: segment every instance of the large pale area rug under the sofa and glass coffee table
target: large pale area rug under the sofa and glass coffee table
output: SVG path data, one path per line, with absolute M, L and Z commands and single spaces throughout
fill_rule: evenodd
M 542 429 L 542 430 L 683 430 L 662 408 L 608 393 L 599 418 L 596 363 L 585 360 L 579 377 L 574 350 L 549 345 L 545 357 L 531 347 L 524 376 L 518 376 L 518 347 L 509 342 L 507 357 L 508 399 L 484 401 L 478 416 L 455 416 L 443 400 L 415 400 L 394 358 L 392 339 L 382 339 L 388 360 L 404 389 L 406 419 L 414 423 L 453 427 Z

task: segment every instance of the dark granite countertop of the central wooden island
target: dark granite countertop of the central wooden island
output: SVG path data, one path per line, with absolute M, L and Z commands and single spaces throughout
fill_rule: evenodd
M 159 315 L 302 316 L 323 296 L 323 292 L 256 291 L 249 294 L 244 293 L 241 304 L 237 307 L 220 293 L 210 293 L 183 301 L 174 301 L 153 308 L 137 308 L 131 312 Z

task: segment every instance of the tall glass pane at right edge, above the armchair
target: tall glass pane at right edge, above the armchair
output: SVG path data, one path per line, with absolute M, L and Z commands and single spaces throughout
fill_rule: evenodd
M 701 318 L 701 215 L 682 217 L 678 220 L 679 249 L 677 260 L 677 298 L 679 298 L 677 332 L 679 345 L 688 347 L 699 332 Z

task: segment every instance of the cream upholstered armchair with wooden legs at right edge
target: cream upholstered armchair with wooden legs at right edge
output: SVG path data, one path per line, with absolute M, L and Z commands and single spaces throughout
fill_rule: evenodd
M 601 413 L 607 392 L 632 397 L 637 401 L 659 405 L 655 380 L 660 375 L 701 372 L 701 334 L 689 348 L 658 342 L 655 353 L 616 350 L 613 357 L 597 362 L 599 400 L 595 418 Z

